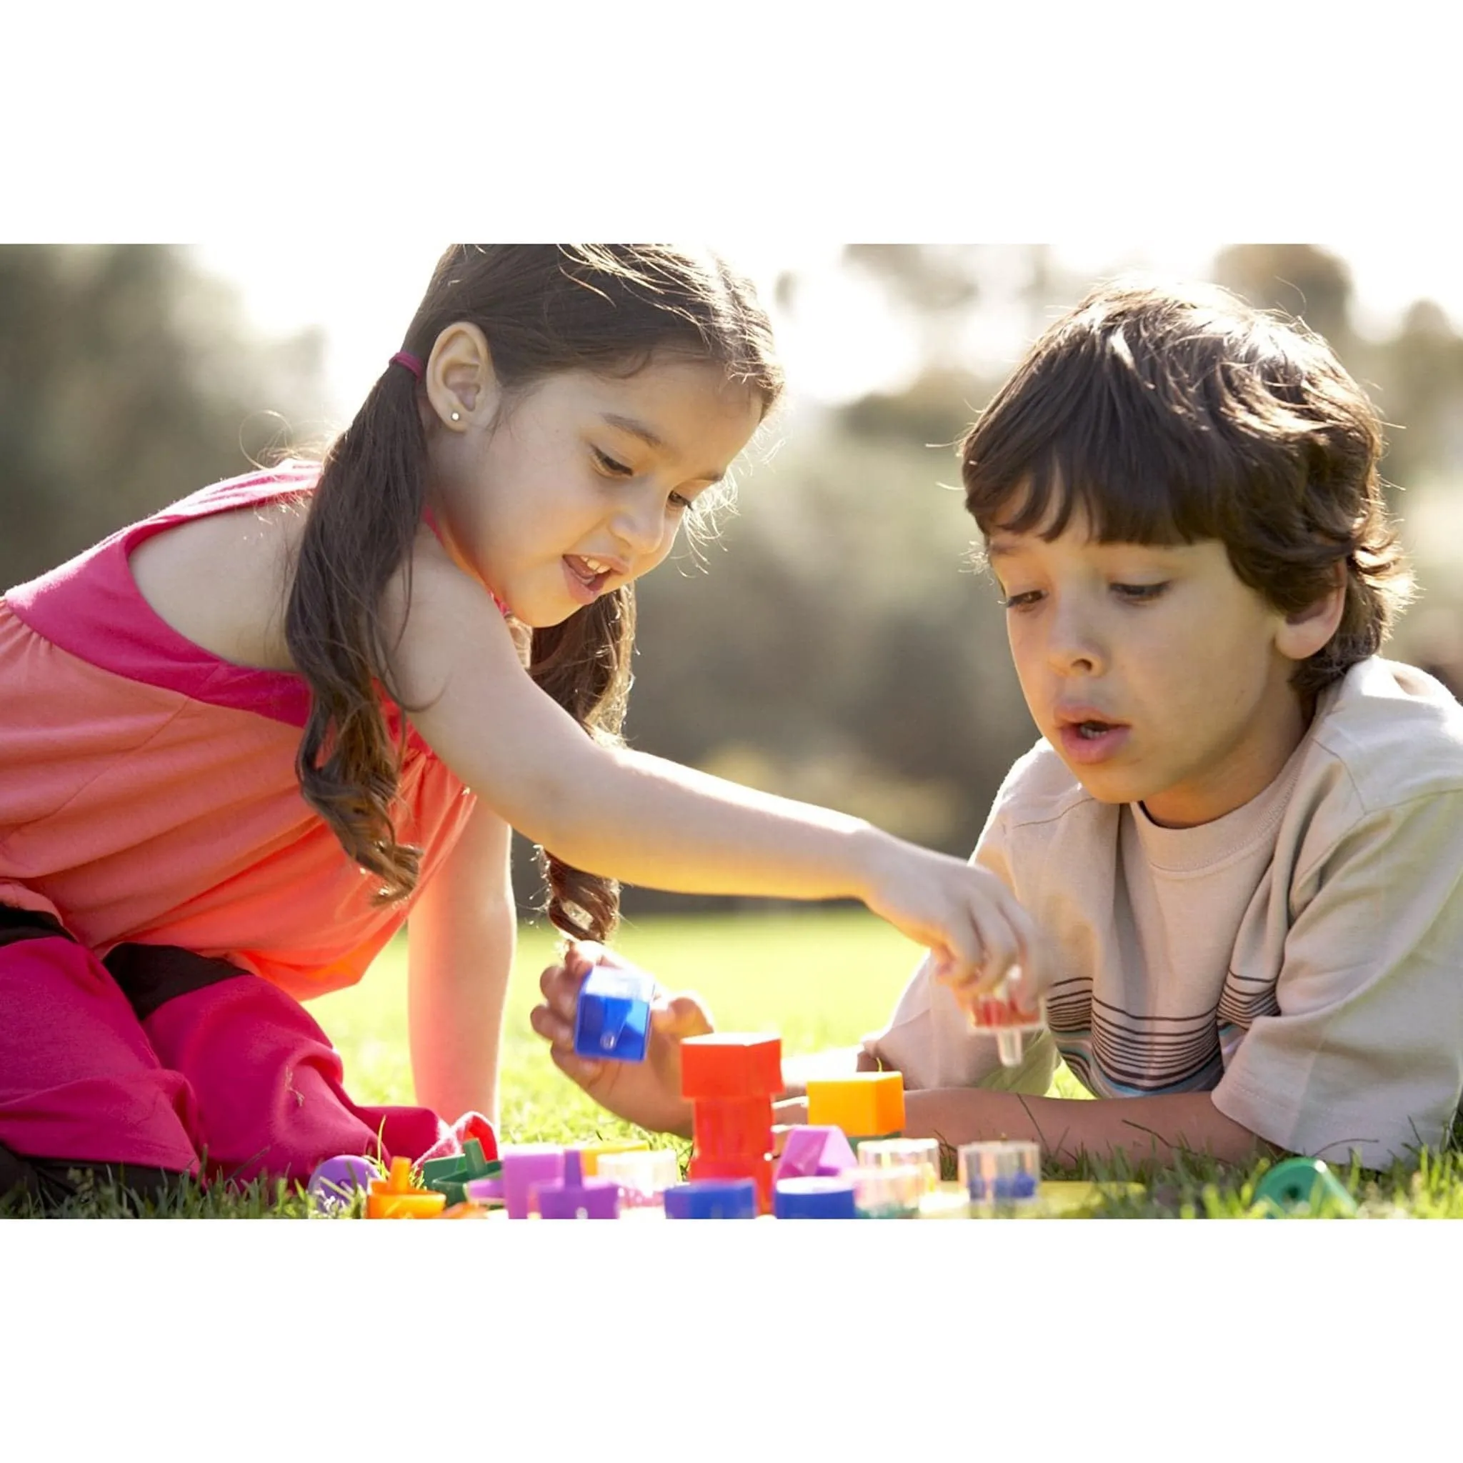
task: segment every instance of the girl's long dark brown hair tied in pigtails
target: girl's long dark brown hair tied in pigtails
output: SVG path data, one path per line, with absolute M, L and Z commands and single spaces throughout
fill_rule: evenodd
M 660 244 L 455 244 L 437 262 L 402 350 L 426 360 L 456 320 L 487 336 L 509 410 L 553 372 L 631 375 L 660 354 L 723 366 L 762 398 L 764 414 L 783 386 L 767 315 L 714 255 Z M 413 891 L 420 859 L 396 841 L 392 822 L 401 740 L 388 729 L 382 692 L 398 707 L 401 698 L 386 670 L 380 610 L 426 508 L 420 391 L 411 372 L 388 366 L 331 445 L 285 610 L 290 652 L 312 692 L 300 787 L 345 851 L 382 881 L 382 900 Z M 617 742 L 633 638 L 635 600 L 625 585 L 562 625 L 535 629 L 528 672 L 590 736 Z M 552 850 L 540 856 L 553 923 L 609 938 L 619 917 L 614 881 L 572 869 Z

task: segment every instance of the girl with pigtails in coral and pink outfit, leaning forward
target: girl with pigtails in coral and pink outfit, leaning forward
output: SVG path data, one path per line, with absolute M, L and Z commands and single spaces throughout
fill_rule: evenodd
M 509 828 L 572 936 L 619 879 L 853 895 L 961 992 L 1023 958 L 992 875 L 620 742 L 631 584 L 777 401 L 770 345 L 712 257 L 454 247 L 322 467 L 0 600 L 0 1189 L 451 1147 L 496 1107 Z M 424 1106 L 361 1107 L 300 1001 L 408 911 Z

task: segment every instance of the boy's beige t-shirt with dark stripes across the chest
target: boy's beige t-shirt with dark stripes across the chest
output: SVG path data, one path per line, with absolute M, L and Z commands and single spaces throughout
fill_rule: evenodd
M 973 854 L 1052 952 L 1050 1036 L 1018 1074 L 925 966 L 866 1049 L 910 1087 L 1213 1091 L 1298 1153 L 1383 1166 L 1463 1096 L 1463 707 L 1410 666 L 1353 666 L 1244 808 L 1163 828 L 1093 799 L 1039 742 Z M 1014 1078 L 1014 1081 L 1012 1081 Z

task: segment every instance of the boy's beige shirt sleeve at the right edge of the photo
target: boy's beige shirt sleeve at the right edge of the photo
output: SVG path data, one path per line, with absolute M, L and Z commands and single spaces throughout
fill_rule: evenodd
M 1302 870 L 1276 983 L 1214 1106 L 1368 1167 L 1445 1138 L 1463 1093 L 1463 791 L 1362 815 Z

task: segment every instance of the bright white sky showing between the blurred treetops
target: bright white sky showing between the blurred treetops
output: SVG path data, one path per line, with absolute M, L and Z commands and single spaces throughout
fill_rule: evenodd
M 1358 325 L 1385 334 L 1419 297 L 1431 297 L 1463 325 L 1463 255 L 1443 237 L 1399 241 L 1385 234 L 1349 241 L 1315 240 L 1340 255 L 1356 285 Z M 876 287 L 837 268 L 840 244 L 726 243 L 721 252 L 749 272 L 771 306 L 772 284 L 787 268 L 811 281 L 793 319 L 778 319 L 778 347 L 794 395 L 828 401 L 890 386 L 916 363 L 916 342 Z M 1056 262 L 1097 279 L 1121 268 L 1166 274 L 1204 271 L 1223 243 L 1132 244 L 1097 236 L 1053 246 Z M 266 334 L 306 325 L 326 332 L 326 372 L 334 410 L 348 417 L 401 344 L 426 288 L 439 244 L 402 238 L 373 241 L 358 262 L 338 241 L 249 237 L 196 246 L 199 262 L 230 279 L 252 322 Z M 1012 360 L 1030 325 L 999 309 L 988 293 L 983 335 L 973 350 Z

